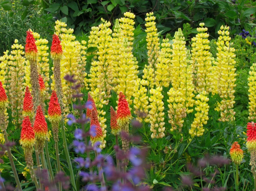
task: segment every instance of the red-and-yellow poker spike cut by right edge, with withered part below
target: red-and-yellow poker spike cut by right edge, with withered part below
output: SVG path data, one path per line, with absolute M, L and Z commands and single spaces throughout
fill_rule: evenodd
M 246 147 L 248 151 L 251 153 L 250 165 L 251 172 L 253 174 L 256 173 L 256 125 L 254 122 L 247 123 L 247 142 Z

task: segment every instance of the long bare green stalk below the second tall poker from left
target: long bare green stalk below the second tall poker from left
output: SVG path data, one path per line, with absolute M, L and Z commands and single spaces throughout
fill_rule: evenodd
M 70 160 L 70 156 L 69 156 L 69 151 L 68 151 L 67 140 L 66 140 L 66 133 L 65 133 L 65 129 L 64 129 L 63 114 L 62 114 L 62 119 L 61 119 L 61 132 L 62 132 L 64 152 L 65 152 L 66 159 L 67 159 L 68 165 L 69 165 L 71 184 L 72 184 L 73 189 L 76 190 L 76 181 L 75 181 L 75 178 L 74 178 L 73 168 L 72 168 L 72 164 L 71 164 L 71 160 Z

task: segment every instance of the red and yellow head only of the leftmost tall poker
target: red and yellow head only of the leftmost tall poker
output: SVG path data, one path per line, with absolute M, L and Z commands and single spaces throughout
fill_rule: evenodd
M 37 58 L 37 47 L 35 38 L 32 31 L 27 31 L 25 54 L 27 59 L 36 60 Z

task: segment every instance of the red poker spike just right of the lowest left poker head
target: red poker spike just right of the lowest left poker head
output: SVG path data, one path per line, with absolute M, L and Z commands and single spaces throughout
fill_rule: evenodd
M 43 152 L 44 142 L 47 138 L 48 129 L 47 129 L 47 123 L 45 121 L 45 117 L 44 117 L 41 105 L 39 105 L 36 110 L 34 132 L 35 132 L 36 145 L 38 148 L 38 152 Z

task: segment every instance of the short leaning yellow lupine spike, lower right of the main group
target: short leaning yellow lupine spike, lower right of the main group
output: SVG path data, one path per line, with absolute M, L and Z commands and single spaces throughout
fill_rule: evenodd
M 198 94 L 196 96 L 196 108 L 195 110 L 197 113 L 195 113 L 195 117 L 193 123 L 191 124 L 191 129 L 189 129 L 189 134 L 191 134 L 191 137 L 199 137 L 202 136 L 204 133 L 204 125 L 207 124 L 208 118 L 208 111 L 210 106 L 208 105 L 209 98 L 207 96 L 204 96 L 206 92 L 202 92 L 202 94 Z

